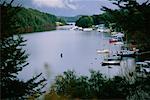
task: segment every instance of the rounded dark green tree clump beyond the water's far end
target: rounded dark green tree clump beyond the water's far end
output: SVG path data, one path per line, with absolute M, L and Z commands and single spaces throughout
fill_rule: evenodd
M 93 18 L 90 16 L 82 16 L 76 21 L 76 26 L 82 28 L 92 27 L 93 24 L 94 24 Z

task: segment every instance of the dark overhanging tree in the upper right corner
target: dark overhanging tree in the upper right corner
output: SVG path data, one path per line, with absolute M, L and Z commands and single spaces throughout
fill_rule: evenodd
M 124 31 L 129 42 L 135 42 L 140 49 L 150 50 L 150 2 L 136 0 L 111 0 L 119 9 L 103 7 L 104 19 L 113 28 Z M 107 15 L 107 16 L 106 16 Z

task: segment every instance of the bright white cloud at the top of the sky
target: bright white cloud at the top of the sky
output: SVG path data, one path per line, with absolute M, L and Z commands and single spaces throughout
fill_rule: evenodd
M 32 2 L 39 7 L 76 9 L 76 5 L 72 3 L 72 0 L 32 0 Z

